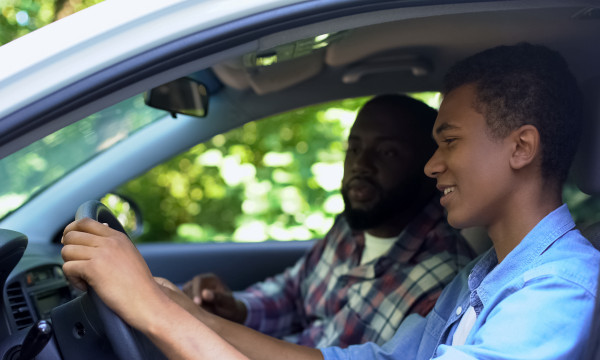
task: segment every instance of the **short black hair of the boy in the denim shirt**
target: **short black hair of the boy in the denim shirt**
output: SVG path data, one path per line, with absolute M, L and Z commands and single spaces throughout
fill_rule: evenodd
M 542 176 L 562 185 L 577 151 L 581 92 L 563 57 L 540 45 L 499 46 L 454 65 L 443 93 L 475 84 L 474 108 L 486 118 L 490 135 L 504 138 L 523 125 L 540 133 Z

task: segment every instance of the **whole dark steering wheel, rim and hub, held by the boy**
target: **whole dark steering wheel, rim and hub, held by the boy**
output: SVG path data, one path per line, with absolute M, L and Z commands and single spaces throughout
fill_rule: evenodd
M 77 209 L 76 220 L 86 217 L 106 223 L 127 235 L 119 220 L 99 201 L 87 201 Z M 91 287 L 87 293 L 55 308 L 51 316 L 65 359 L 79 359 L 81 356 L 105 359 L 115 355 L 121 360 L 166 359 L 150 340 L 106 306 Z M 106 340 L 114 354 L 107 349 Z

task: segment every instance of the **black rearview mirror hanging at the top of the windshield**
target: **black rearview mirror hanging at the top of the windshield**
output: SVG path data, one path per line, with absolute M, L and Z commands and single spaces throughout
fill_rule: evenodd
M 146 91 L 144 101 L 148 106 L 168 111 L 173 117 L 175 114 L 205 117 L 208 113 L 206 86 L 187 77 Z

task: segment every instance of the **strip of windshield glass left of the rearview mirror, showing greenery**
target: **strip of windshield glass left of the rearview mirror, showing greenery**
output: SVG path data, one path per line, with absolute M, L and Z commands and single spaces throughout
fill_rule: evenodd
M 100 152 L 164 117 L 164 111 L 146 106 L 138 95 L 1 159 L 0 219 Z

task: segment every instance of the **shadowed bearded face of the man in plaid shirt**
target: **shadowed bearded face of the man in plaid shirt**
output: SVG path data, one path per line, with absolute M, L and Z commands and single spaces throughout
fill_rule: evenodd
M 352 228 L 384 224 L 419 193 L 426 146 L 419 145 L 423 136 L 411 128 L 412 121 L 389 106 L 367 105 L 360 111 L 348 138 L 342 179 L 344 214 Z

